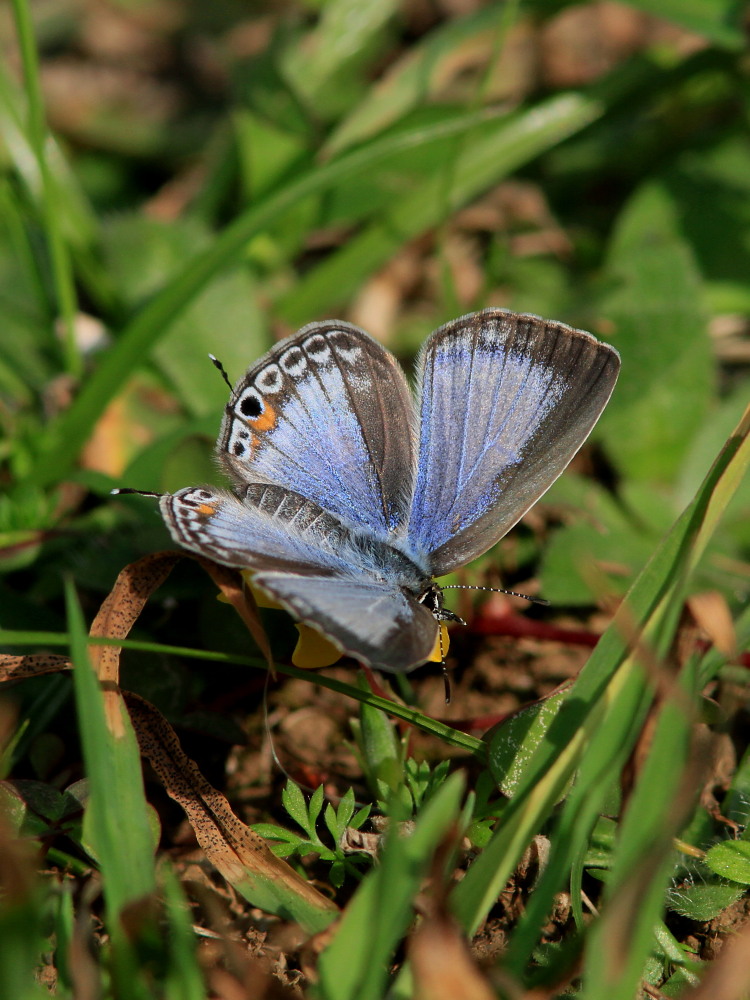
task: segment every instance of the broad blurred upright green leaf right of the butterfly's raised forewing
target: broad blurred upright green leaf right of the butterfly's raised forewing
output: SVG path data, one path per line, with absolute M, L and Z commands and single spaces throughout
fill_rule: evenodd
M 623 366 L 599 433 L 626 476 L 670 482 L 702 426 L 716 372 L 700 275 L 663 185 L 646 184 L 631 198 L 607 275 L 617 287 L 603 309 Z

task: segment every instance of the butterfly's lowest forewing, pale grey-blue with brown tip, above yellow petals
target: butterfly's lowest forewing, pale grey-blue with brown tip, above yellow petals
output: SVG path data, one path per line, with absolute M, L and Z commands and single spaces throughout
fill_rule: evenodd
M 432 612 L 397 587 L 351 576 L 305 579 L 287 573 L 258 573 L 253 584 L 374 669 L 411 670 L 435 648 L 438 623 Z

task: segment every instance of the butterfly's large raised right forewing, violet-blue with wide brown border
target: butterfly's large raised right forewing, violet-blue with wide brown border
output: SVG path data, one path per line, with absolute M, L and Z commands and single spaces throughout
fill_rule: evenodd
M 617 381 L 608 344 L 487 309 L 446 324 L 418 362 L 421 437 L 409 539 L 436 576 L 481 555 L 563 472 Z

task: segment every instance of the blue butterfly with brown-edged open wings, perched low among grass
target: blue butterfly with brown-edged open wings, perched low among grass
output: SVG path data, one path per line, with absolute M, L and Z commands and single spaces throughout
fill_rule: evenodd
M 617 351 L 562 323 L 485 309 L 424 344 L 412 395 L 393 355 L 331 320 L 234 387 L 217 454 L 234 488 L 162 496 L 175 541 L 382 670 L 423 663 L 435 577 L 494 545 L 552 485 L 612 393 Z

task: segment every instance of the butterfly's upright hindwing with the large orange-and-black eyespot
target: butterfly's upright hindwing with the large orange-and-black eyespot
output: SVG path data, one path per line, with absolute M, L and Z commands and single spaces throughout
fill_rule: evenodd
M 237 383 L 217 451 L 239 484 L 287 487 L 383 536 L 408 514 L 416 451 L 393 356 L 347 323 L 313 323 Z

